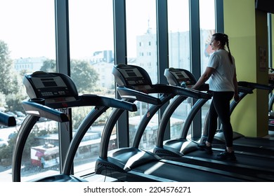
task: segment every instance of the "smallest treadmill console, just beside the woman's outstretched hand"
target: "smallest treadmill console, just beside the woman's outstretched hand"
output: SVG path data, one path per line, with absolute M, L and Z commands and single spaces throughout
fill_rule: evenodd
M 166 76 L 170 85 L 192 87 L 197 82 L 193 74 L 185 69 L 165 69 L 164 76 Z

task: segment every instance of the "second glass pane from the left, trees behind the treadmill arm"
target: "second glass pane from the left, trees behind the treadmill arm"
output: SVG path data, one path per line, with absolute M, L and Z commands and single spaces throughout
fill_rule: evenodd
M 69 13 L 71 77 L 79 94 L 114 98 L 112 0 L 70 0 Z M 92 109 L 93 106 L 72 109 L 73 134 Z M 82 139 L 74 158 L 75 175 L 94 172 L 101 133 L 111 110 L 103 113 Z M 115 132 L 112 141 L 112 148 L 116 148 Z

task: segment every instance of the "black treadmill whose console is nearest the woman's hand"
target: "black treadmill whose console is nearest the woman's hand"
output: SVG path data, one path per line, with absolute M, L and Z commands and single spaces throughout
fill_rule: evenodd
M 185 72 L 184 69 L 166 69 L 164 75 L 167 77 L 167 80 L 172 85 L 178 85 L 181 83 L 181 73 Z M 188 71 L 187 71 L 188 73 Z M 185 80 L 185 78 L 183 78 Z M 195 83 L 189 83 L 189 87 Z M 245 96 L 247 92 L 250 92 L 249 89 L 245 87 L 240 87 L 240 97 Z M 177 162 L 186 162 L 189 164 L 200 165 L 210 168 L 217 168 L 226 172 L 230 172 L 235 176 L 241 176 L 243 179 L 249 179 L 251 181 L 273 181 L 274 180 L 274 166 L 273 158 L 265 157 L 256 157 L 251 155 L 251 153 L 246 153 L 242 151 L 235 151 L 237 154 L 237 161 L 231 162 L 228 160 L 217 160 L 216 154 L 220 151 L 223 151 L 225 146 L 221 148 L 213 148 L 214 155 L 208 155 L 203 151 L 199 151 L 197 144 L 199 141 L 193 141 L 186 139 L 190 124 L 197 113 L 202 107 L 202 105 L 207 100 L 199 99 L 191 109 L 188 118 L 185 120 L 183 130 L 181 132 L 181 137 L 178 139 L 169 139 L 164 141 L 164 131 L 167 126 L 167 122 L 174 112 L 176 106 L 179 103 L 174 102 L 169 104 L 167 107 L 162 121 L 159 125 L 159 134 L 157 138 L 157 146 L 155 147 L 154 153 L 159 155 L 161 158 L 167 160 L 173 160 Z M 171 106 L 171 105 L 174 106 Z M 215 147 L 215 145 L 214 145 Z M 256 161 L 254 161 L 256 160 Z

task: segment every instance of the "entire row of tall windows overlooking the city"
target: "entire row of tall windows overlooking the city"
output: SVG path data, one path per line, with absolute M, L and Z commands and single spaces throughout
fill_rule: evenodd
M 24 73 L 57 71 L 55 3 L 48 0 L 0 0 L 0 109 L 16 117 L 16 127 L 0 127 L 0 181 L 11 181 L 13 144 L 25 119 L 22 100 L 28 99 L 22 85 Z M 190 70 L 190 18 L 188 0 L 168 0 L 169 66 Z M 112 0 L 68 1 L 70 73 L 79 94 L 115 97 Z M 57 10 L 58 11 L 58 10 Z M 160 13 L 159 13 L 160 14 Z M 143 67 L 158 82 L 157 19 L 155 0 L 126 1 L 127 63 Z M 60 19 L 60 18 L 59 18 Z M 60 25 L 60 24 L 58 24 Z M 214 0 L 200 0 L 202 71 L 207 64 L 210 36 L 214 33 Z M 65 31 L 63 29 L 63 31 Z M 59 40 L 58 40 L 59 41 Z M 59 51 L 59 50 L 58 50 Z M 60 57 L 62 58 L 62 57 Z M 59 58 L 58 58 L 59 59 Z M 58 64 L 67 66 L 67 64 Z M 155 95 L 156 96 L 156 95 Z M 129 113 L 129 145 L 138 123 L 150 105 L 136 102 L 138 111 Z M 178 137 L 191 108 L 186 100 L 171 118 L 171 138 Z M 93 106 L 72 109 L 72 137 Z M 204 106 L 203 113 L 208 109 Z M 74 174 L 94 172 L 108 109 L 90 127 L 74 158 Z M 158 114 L 150 120 L 140 148 L 152 149 L 158 129 Z M 204 118 L 204 114 L 202 115 Z M 69 132 L 68 132 L 69 134 Z M 58 123 L 41 118 L 24 149 L 21 181 L 60 173 Z M 123 138 L 122 138 L 123 139 Z M 109 149 L 117 148 L 116 128 Z

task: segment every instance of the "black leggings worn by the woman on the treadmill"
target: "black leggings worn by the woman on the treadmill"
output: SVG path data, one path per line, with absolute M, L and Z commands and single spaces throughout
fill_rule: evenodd
M 217 118 L 223 125 L 226 146 L 233 146 L 233 129 L 230 123 L 230 100 L 234 92 L 212 92 L 213 98 L 209 108 L 209 127 L 207 141 L 212 143 L 217 130 Z

